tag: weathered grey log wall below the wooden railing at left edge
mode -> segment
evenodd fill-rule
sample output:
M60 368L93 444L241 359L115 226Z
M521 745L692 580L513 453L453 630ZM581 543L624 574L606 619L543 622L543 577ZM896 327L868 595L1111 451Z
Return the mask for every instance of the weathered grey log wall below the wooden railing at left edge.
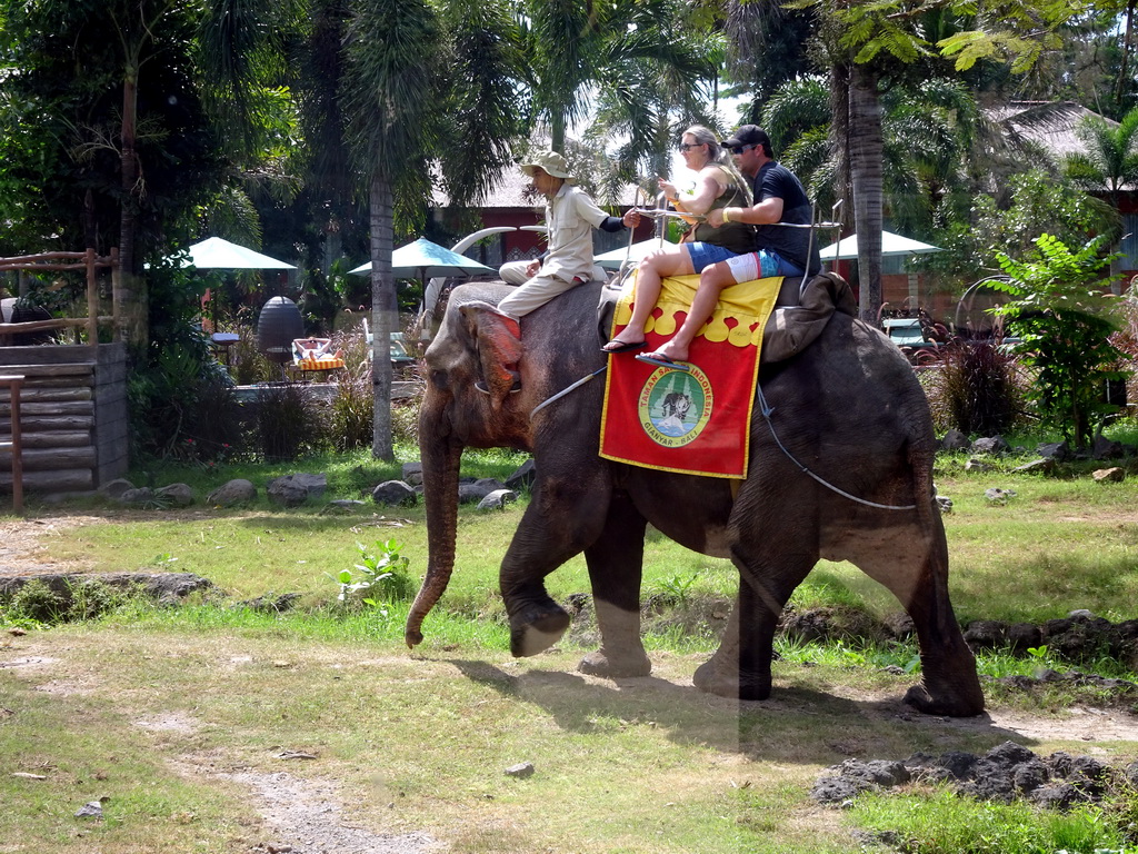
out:
M0 347L0 370L26 377L20 396L25 490L93 490L126 473L122 344ZM0 391L0 433L10 429L8 395ZM0 488L11 488L11 457L2 451Z

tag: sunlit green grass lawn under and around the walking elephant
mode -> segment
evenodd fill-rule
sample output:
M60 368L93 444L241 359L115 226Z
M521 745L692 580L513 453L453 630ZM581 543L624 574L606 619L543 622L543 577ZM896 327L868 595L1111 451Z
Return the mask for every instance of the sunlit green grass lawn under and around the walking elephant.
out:
M516 462L472 458L470 474L501 477ZM356 498L357 482L396 475L337 470L330 496ZM949 460L937 481L954 500L945 522L962 622L1040 622L1074 608L1138 616L1138 479L976 475ZM991 503L992 486L1016 495ZM197 573L225 596L174 609L127 602L55 627L0 611L0 626L26 631L0 635L0 853L410 852L428 849L421 835L471 853L857 852L852 830L891 827L909 835L909 851L947 854L914 818L927 810L926 826L954 828L954 851L996 851L979 841L991 811L973 814L979 807L934 790L906 791L912 821L868 799L855 811L820 807L809 791L848 757L983 753L1009 738L1041 755L1089 752L1120 766L1138 756L1129 707L1094 708L1075 689L1056 689L1042 708L993 690L990 715L970 721L915 715L899 699L916 676L882 670L908 662L905 648L786 648L769 701L699 693L691 674L717 643L714 615L737 575L654 534L644 582L644 598L661 603L649 625L651 678L577 674L587 622L549 654L513 659L497 565L523 502L461 510L454 578L413 652L402 642L405 602L344 613L330 576L360 563L357 543L394 539L418 578L427 556L421 508L90 504L68 508L72 524L33 512L41 560ZM561 600L586 592L583 561L554 573L550 589ZM286 614L234 607L286 592L302 594ZM863 603L879 616L898 609L835 564L819 565L795 603ZM981 658L990 674L1013 666ZM533 763L531 777L505 774L522 762ZM101 820L75 818L100 798ZM1091 847L1069 849L1119 849L1114 828L1125 822L1112 819L1123 807L1113 810L1100 816L1102 832L1086 837ZM1039 834L1050 827L1038 824ZM1000 849L1063 847L1062 831L1046 832Z

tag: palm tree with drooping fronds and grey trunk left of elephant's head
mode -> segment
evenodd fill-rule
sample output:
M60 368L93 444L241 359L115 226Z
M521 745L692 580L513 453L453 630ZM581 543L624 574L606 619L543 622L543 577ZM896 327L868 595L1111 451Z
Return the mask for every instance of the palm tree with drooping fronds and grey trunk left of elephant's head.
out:
M512 22L478 0L442 11L422 0L354 0L352 11L340 102L371 211L372 454L390 460L394 222L421 215L434 161L459 204L510 163L517 40Z

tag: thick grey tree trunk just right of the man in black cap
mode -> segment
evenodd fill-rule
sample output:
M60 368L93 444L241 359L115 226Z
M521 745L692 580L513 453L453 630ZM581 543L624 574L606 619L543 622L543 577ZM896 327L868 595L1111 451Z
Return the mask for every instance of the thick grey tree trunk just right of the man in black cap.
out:
M849 149L857 231L859 314L876 325L881 311L882 134L877 74L868 65L850 68Z

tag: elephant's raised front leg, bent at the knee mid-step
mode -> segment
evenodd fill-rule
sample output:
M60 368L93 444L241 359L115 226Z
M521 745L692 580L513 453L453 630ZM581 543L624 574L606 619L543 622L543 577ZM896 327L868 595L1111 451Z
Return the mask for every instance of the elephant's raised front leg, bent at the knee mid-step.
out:
M534 500L502 560L510 651L533 656L569 627L569 614L545 591L545 576L593 544L604 529L611 482L603 469L542 475Z

